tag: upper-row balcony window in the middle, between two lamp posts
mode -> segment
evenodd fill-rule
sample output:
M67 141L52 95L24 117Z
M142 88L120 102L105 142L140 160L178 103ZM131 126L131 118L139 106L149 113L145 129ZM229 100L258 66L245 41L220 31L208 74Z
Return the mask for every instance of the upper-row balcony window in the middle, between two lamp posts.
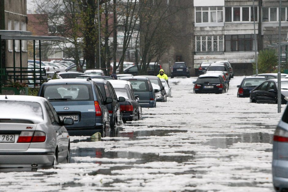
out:
M253 6L251 7L225 7L225 22L247 21L252 22ZM255 21L258 21L258 7L255 7Z

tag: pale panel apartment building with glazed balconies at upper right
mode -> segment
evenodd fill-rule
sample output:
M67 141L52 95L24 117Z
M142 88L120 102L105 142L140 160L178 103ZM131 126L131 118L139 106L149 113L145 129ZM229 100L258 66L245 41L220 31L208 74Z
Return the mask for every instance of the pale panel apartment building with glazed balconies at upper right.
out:
M203 61L229 60L235 74L252 75L255 48L278 42L279 1L194 0L194 67ZM282 41L287 34L288 2L282 3Z

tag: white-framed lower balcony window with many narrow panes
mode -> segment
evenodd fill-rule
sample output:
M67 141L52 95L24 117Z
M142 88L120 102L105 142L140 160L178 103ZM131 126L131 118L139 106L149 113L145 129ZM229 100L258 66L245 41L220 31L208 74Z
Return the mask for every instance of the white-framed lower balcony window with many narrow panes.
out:
M223 51L223 36L196 36L196 51Z

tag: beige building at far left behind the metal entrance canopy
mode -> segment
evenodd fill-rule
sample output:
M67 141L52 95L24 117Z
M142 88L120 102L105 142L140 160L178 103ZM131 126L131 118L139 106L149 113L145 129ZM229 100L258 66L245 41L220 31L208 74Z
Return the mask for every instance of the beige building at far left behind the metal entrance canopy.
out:
M0 0L0 30L27 31L26 0ZM22 41L22 66L27 66L27 42ZM13 54L15 54L16 67L20 67L20 41L15 40L13 53L13 41L2 40L2 66L13 67Z

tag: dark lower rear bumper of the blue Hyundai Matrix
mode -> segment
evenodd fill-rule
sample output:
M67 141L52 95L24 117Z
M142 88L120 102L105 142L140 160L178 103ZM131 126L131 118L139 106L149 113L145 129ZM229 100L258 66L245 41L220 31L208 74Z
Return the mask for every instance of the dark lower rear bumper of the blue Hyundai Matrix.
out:
M102 132L103 126L103 123L97 123L94 127L66 127L66 129L70 136L91 136L94 133Z

